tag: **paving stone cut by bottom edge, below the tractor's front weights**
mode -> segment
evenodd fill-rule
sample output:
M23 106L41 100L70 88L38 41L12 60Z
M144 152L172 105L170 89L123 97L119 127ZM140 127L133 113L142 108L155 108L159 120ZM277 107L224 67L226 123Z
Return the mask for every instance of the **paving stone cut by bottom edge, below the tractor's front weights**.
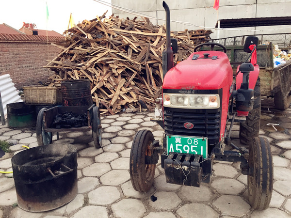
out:
M218 218L219 214L210 206L202 203L188 203L177 210L177 214L182 218Z

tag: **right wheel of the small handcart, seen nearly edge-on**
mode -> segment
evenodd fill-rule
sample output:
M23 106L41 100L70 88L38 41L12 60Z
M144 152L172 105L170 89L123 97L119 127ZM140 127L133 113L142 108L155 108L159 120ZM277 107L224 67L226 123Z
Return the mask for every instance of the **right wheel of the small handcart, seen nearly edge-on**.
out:
M101 148L102 145L101 142L102 130L101 128L98 128L98 126L101 126L100 112L99 108L95 106L93 108L93 119L92 119L92 136L95 148Z

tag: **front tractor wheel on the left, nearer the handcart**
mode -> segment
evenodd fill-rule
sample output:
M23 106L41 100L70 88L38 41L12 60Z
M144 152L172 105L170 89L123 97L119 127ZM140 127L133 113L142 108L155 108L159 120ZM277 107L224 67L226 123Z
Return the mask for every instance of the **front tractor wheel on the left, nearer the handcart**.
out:
M136 191L147 192L152 187L156 165L146 164L146 156L153 151L150 144L154 136L149 130L140 130L135 134L130 151L129 171L133 188Z

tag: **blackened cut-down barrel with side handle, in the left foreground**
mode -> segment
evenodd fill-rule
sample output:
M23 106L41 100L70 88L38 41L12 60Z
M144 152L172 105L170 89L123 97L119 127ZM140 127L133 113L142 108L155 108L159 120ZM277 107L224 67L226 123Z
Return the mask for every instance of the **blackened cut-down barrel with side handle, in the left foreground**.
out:
M11 159L18 206L49 211L72 201L77 193L77 148L49 144L17 153Z

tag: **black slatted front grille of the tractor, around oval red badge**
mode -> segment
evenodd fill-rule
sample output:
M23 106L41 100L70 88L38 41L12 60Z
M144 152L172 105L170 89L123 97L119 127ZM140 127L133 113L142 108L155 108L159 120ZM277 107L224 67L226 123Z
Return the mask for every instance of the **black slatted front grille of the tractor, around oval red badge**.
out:
M207 137L209 145L219 142L220 109L176 109L164 107L164 129L166 135ZM184 124L194 124L186 129Z

